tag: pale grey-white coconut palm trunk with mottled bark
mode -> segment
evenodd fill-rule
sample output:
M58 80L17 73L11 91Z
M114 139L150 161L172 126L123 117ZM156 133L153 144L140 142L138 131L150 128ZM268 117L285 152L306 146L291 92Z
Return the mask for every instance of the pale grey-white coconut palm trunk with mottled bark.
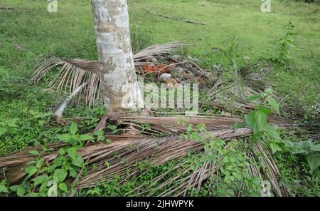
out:
M91 0L91 4L105 108L110 113L142 108L130 43L127 0Z

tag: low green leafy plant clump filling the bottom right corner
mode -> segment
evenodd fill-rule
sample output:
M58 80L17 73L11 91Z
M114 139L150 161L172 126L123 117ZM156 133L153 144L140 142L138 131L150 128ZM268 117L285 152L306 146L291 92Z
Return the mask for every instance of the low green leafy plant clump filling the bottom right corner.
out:
M302 133L303 130L299 134ZM296 196L320 196L319 166L315 165L314 170L311 170L310 164L315 162L308 163L308 160L309 162L314 160L312 157L316 155L319 160L319 152L316 152L319 142L303 139L304 135L284 131L283 143L279 144L282 150L274 154L273 158L282 174L282 180L289 185ZM307 154L312 155L308 160Z

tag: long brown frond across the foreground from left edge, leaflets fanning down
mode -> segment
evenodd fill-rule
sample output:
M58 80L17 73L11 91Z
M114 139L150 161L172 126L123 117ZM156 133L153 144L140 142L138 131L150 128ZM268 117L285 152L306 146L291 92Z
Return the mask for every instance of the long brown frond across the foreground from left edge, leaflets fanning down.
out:
M213 130L210 131L212 135L217 138L231 140L233 138L244 137L250 135L249 128L242 128L237 130ZM169 160L181 158L187 155L190 150L198 151L203 149L203 143L183 140L178 135L171 135L162 138L119 138L112 139L112 143L104 144L92 143L81 148L78 153L88 163L95 163L96 168L89 170L87 175L82 177L77 187L93 187L97 182L107 182L114 179L115 175L125 176L129 179L127 172L131 172L133 176L137 173L137 167L134 163L139 160L148 158L152 165L161 165ZM42 152L41 148L36 148L41 152L42 158L46 162L51 162L58 156L58 148L63 147L64 144L51 145L54 148L50 152ZM7 181L16 183L25 177L24 167L28 162L34 160L36 157L30 155L28 152L34 150L30 148L21 153L11 154L6 157L0 157L0 168L4 168L4 173ZM93 153L92 153L93 152ZM117 157L114 157L117 153ZM125 161L125 162L124 162ZM109 163L110 167L106 167L105 163Z

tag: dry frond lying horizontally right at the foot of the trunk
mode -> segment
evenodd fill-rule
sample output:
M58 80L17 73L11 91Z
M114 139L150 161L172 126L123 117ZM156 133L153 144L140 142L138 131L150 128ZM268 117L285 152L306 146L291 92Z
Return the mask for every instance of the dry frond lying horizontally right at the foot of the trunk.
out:
M231 128L232 125L235 125L235 123L240 123L240 122L242 122L242 120L239 118L225 117L225 116L219 116L219 115L211 115L210 118L201 117L201 116L190 117L185 115L174 115L169 117L149 116L149 115L120 115L119 116L119 123L121 125L135 124L134 128L136 128L136 125L139 123L148 123L150 125L149 130L151 130L152 132L156 131L158 133L161 133L161 132L166 132L171 134L183 133L188 129L188 125L196 126L198 124L204 123L206 125L207 130L213 130L215 131L215 133L218 133L219 135L223 135L223 137L225 138L228 138L228 134L230 134L230 137L233 137L233 130L230 130L229 128ZM183 125L182 123L185 123L185 125ZM292 126L290 124L282 124L282 125L283 127ZM220 131L220 132L217 132L217 131ZM227 131L227 132L224 133L223 131ZM240 130L234 130L234 131L240 131ZM124 138L128 138L128 135L127 134L106 135L105 138L112 138L118 141L118 140L125 140ZM53 148L54 150L57 150L63 145L64 144L57 143L57 144L48 145L48 148ZM18 163L24 163L26 161L32 160L34 158L34 155L28 154L28 152L30 152L31 150L41 151L41 147L28 148L26 150L22 150L21 152L7 155L6 157L0 157L0 168L9 166L9 165L16 165ZM53 155L53 152L51 151L49 154ZM43 155L46 156L46 153L44 153Z

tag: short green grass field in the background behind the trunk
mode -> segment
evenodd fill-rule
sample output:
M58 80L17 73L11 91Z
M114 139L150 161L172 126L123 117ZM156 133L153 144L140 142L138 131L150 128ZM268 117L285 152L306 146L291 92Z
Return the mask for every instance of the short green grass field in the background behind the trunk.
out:
M41 53L66 58L96 59L90 1L59 1L58 13L46 10L46 1L3 1L1 11L1 73L30 76ZM149 9L182 19L205 22L197 26L151 16ZM319 6L301 2L272 1L272 13L260 11L260 1L129 1L132 31L139 29L152 43L183 41L191 56L201 58L204 67L215 63L230 68L230 58L217 56L213 47L232 51L241 66L243 56L252 63L277 56L276 40L284 35L283 26L291 21L296 30L290 70L274 68L270 78L278 92L304 102L319 99ZM23 50L16 50L14 45ZM232 49L231 49L232 48ZM294 83L292 83L294 81ZM310 102L308 103L310 104Z

